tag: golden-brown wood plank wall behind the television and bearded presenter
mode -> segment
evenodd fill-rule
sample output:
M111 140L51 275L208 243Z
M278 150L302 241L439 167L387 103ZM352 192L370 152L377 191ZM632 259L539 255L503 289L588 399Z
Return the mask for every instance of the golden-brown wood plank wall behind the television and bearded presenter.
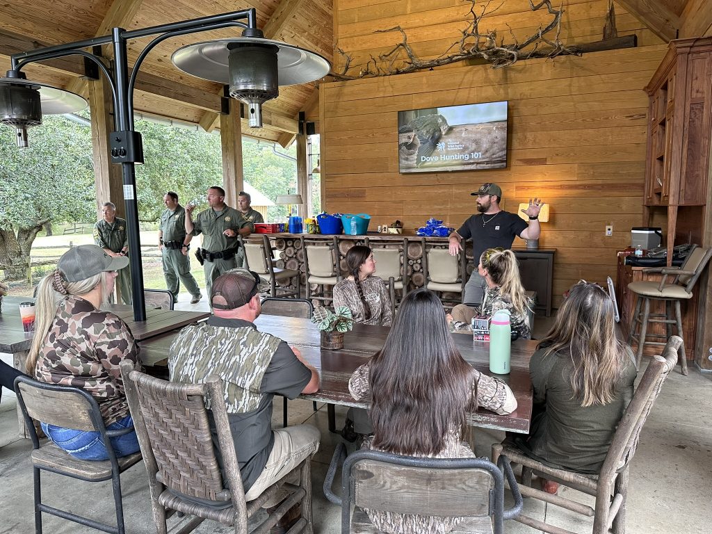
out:
M429 11L417 11L426 6ZM431 46L435 36L463 27L457 20L448 22L456 9L461 21L463 6L444 0L337 0L337 46L346 51L360 46L359 53L367 57L379 51L383 36L389 35L369 32L398 23L408 31L409 42L411 35L422 36L424 46ZM579 43L599 40L605 6L605 1L567 2L562 37ZM508 211L534 196L550 203L551 221L543 224L540 246L557 248L555 306L580 278L604 282L606 276L615 276L616 251L629 245L630 228L642 221L647 110L642 89L666 50L618 6L617 13L619 33L624 33L623 26L655 44L580 58L520 61L497 70L459 63L321 85L325 209L371 214L372 226L399 219L414 229L435 216L457 227L475 211L470 192L483 182L496 182ZM506 23L513 28L538 25L528 14L527 1L507 0L496 14L505 28ZM454 38L436 41L441 48L433 45L432 50L442 51ZM414 45L418 42L413 38ZM399 110L495 100L509 101L506 169L399 174ZM614 226L612 237L604 236L607 224Z

